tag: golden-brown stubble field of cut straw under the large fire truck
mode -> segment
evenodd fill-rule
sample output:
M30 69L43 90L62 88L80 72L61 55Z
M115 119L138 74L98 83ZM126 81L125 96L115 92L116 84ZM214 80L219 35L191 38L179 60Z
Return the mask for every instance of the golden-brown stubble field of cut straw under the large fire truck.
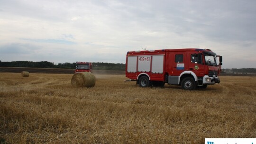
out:
M6 144L204 144L256 136L256 77L220 76L206 90L140 88L122 75L0 73L0 142Z

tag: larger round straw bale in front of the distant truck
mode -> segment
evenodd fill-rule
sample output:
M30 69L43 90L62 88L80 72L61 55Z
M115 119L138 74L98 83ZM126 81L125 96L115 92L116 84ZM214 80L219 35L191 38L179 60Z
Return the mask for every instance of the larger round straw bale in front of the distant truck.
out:
M90 72L75 73L71 79L74 87L94 87L95 76Z

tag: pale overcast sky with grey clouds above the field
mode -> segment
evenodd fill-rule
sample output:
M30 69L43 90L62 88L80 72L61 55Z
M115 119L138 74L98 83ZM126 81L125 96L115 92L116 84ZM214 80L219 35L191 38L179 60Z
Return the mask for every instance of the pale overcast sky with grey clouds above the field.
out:
M141 47L256 68L256 0L0 0L2 62L125 63Z

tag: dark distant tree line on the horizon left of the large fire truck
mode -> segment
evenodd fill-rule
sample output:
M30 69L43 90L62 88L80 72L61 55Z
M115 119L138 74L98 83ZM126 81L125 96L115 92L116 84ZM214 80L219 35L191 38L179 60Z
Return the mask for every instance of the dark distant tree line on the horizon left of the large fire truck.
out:
M60 68L60 69L74 69L75 63L51 63L30 62L30 61L12 61L1 62L0 67L30 67L30 68ZM92 63L93 70L111 70L111 71L125 71L124 63Z

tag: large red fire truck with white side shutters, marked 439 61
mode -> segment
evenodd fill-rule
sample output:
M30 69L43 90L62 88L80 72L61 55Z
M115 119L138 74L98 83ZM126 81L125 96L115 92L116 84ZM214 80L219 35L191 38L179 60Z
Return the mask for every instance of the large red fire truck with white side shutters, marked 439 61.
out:
M185 90L219 83L222 56L210 49L131 51L126 55L126 77L141 87L181 85Z

